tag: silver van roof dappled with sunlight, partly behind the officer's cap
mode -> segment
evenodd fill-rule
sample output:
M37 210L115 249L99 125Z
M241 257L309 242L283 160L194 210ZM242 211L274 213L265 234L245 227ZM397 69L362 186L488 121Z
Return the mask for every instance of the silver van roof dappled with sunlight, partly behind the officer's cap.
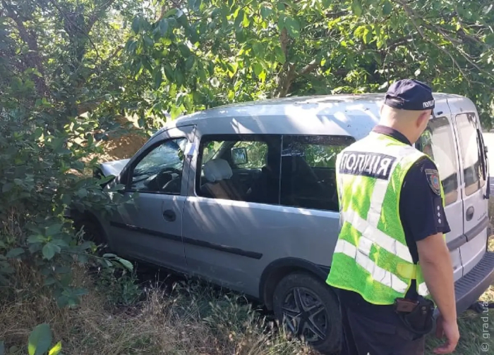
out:
M173 120L169 127L198 125L201 133L349 135L359 139L379 120L385 94L294 96L217 106ZM447 99L463 96L434 93L435 110ZM438 111L440 112L440 111ZM206 122L205 122L206 121Z

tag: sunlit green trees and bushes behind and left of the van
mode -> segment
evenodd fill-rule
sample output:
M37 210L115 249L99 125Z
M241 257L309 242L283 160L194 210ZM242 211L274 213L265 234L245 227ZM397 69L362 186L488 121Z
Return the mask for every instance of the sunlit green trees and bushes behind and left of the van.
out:
M126 203L88 174L102 148L181 114L416 77L492 127L493 26L490 0L0 0L2 297L19 264L60 306L86 292L74 263L131 268L96 256L64 209Z

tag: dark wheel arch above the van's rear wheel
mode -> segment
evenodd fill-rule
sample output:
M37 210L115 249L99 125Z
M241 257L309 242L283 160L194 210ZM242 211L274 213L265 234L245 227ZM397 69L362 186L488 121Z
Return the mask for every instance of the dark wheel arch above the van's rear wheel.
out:
M299 258L283 258L272 261L264 269L259 282L259 298L267 309L272 310L272 296L275 293L278 282L286 275L297 271L311 273L325 282L330 267Z

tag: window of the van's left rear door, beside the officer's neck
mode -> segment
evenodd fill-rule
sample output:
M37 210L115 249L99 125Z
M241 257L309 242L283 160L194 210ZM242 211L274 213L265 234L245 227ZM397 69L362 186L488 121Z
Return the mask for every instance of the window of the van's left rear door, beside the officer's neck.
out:
M437 117L429 120L426 131L418 139L417 149L432 158L438 167L445 204L458 199L458 161L450 120Z

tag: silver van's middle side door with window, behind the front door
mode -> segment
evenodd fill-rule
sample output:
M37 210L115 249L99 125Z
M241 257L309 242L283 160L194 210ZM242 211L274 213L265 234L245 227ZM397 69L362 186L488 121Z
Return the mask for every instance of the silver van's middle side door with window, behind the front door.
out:
M270 219L270 202L279 201L281 136L212 135L200 139L193 163L198 167L195 188L189 189L183 211L188 266L202 278L255 294L265 268L266 245L260 241L279 231L280 220ZM219 147L219 154L208 154L208 147ZM231 161L235 147L245 147L248 161L256 167L265 161L263 175L251 182L236 177L235 163L239 162ZM246 182L250 186L244 185ZM268 218L272 225L266 223Z

